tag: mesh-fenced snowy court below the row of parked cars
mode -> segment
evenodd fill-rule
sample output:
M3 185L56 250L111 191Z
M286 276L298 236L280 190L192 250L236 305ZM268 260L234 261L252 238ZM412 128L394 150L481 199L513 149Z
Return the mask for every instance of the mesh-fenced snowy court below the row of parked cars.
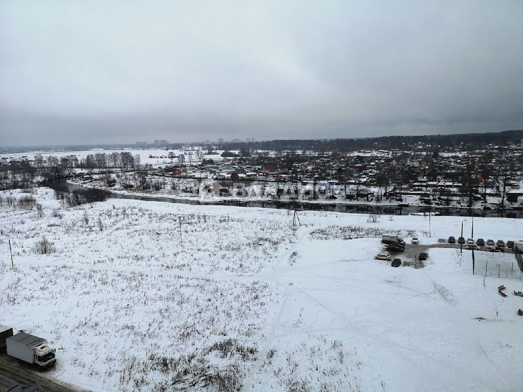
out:
M476 251L474 253L474 274L523 280L523 257L521 253L516 253L516 255L503 252Z

